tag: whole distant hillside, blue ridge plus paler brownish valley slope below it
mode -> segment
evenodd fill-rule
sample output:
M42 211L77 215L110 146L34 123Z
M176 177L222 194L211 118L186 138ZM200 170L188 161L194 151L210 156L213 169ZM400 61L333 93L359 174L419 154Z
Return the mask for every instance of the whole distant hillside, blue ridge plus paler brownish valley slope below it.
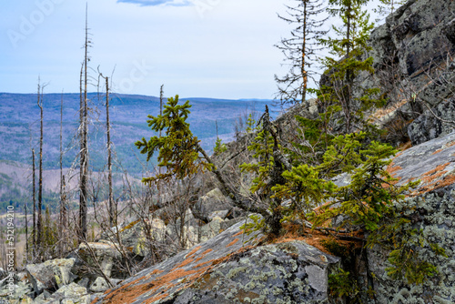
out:
M79 94L44 95L44 187L45 206L58 203L59 185L59 143L60 143L60 102L63 98L63 147L65 172L73 167L75 171L69 182L70 188L76 187L79 148L77 127L79 125ZM105 96L90 93L89 127L89 166L92 171L106 169L106 106ZM39 153L39 107L36 94L0 93L0 213L9 204L22 209L24 203L31 208L31 164L32 147L35 148L35 164L38 166ZM213 98L180 98L192 105L188 122L191 130L207 151L212 151L215 141L220 137L224 142L235 136L235 124L238 117L245 123L249 113L260 117L265 106L274 111L272 100L229 100ZM165 99L165 103L167 99ZM127 172L133 177L142 177L146 167L154 166L154 160L148 164L146 157L139 153L134 143L142 137L151 137L154 133L147 126L147 115L159 114L159 98L155 96L112 95L109 116L111 120L111 138L115 147L114 170L116 181L121 183L122 174ZM216 127L217 126L217 127ZM37 171L36 171L37 172ZM98 175L99 176L99 175ZM37 178L37 177L36 177Z

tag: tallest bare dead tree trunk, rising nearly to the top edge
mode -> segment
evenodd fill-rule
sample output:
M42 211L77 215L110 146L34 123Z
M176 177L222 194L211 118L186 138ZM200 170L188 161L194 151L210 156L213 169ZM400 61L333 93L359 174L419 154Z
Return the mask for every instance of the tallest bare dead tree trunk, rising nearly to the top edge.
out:
M86 217L87 217L87 63L88 63L88 25L86 8L86 44L84 56L84 99L82 100L81 113L81 157L80 157L80 187L79 187L79 241L86 240Z

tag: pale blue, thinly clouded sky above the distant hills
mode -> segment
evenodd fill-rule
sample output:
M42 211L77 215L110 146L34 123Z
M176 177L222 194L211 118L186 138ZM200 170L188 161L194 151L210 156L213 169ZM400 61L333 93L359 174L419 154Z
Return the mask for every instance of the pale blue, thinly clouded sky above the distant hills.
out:
M291 0L88 0L89 49L97 72L124 94L265 98L277 92L283 56L274 47ZM0 92L76 93L84 59L86 2L2 1Z

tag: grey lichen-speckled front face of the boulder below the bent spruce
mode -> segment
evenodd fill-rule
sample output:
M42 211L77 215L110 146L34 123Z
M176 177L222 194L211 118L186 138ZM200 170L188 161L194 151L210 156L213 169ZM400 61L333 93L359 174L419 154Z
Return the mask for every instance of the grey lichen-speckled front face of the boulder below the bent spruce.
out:
M328 272L338 260L304 241L254 248L219 264L174 303L329 303Z

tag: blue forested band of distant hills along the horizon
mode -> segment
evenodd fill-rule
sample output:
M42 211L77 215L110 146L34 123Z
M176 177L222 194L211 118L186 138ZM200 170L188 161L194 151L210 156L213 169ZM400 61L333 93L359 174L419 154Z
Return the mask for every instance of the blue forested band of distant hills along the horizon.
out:
M90 165L94 171L106 165L106 106L105 96L90 93ZM60 101L64 100L63 142L64 167L71 167L76 159L78 141L79 94L44 95L44 164L46 169L59 167ZM213 99L180 98L192 105L188 122L192 132L201 140L202 146L212 150L218 132L223 141L234 137L238 117L248 117L254 112L257 117L265 105L275 108L272 100L264 99ZM165 102L167 99L165 100ZM273 112L278 115L278 112ZM113 95L110 101L112 141L116 149L117 163L122 171L140 174L141 162L146 158L134 146L136 140L154 134L147 127L147 115L159 114L159 98L156 96ZM217 127L216 127L217 122ZM39 108L36 94L0 93L0 159L31 164L31 147L37 156L39 143Z

